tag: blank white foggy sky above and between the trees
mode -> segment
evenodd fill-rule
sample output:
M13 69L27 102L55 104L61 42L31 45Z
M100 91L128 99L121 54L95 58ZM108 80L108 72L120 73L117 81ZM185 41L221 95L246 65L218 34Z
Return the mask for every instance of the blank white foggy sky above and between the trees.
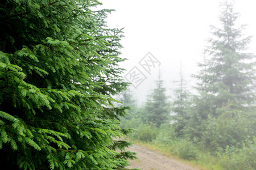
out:
M179 78L180 62L186 75L188 86L195 84L191 74L199 70L197 62L203 59L209 25L220 26L220 1L217 0L105 0L101 8L116 10L107 19L110 28L125 28L121 44L121 57L129 59L120 66L127 71L137 67L147 78L137 88L130 87L140 102L146 100L148 91L155 87L159 68L150 73L139 65L148 52L160 62L160 73L171 95L174 80ZM245 36L254 36L248 52L256 54L256 1L236 0L235 10L241 16L238 24L247 24ZM154 59L153 59L154 60ZM158 63L155 62L155 65ZM138 71L137 71L138 72ZM131 73L131 72L130 72ZM129 77L128 77L129 78ZM139 80L139 79L138 79Z

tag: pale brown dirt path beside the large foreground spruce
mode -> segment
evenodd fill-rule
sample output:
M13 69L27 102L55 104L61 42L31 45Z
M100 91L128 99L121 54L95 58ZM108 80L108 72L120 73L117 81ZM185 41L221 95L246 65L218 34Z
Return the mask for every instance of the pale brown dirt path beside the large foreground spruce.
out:
M127 168L141 168L142 170L199 170L187 163L179 162L179 160L143 146L134 144L128 150L137 152L136 156L139 159L130 160L131 165Z

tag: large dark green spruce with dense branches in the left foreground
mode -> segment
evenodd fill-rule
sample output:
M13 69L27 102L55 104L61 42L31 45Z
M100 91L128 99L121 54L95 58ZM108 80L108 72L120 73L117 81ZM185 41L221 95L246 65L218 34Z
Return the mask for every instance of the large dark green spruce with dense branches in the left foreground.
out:
M2 168L121 169L134 157L114 151L129 145L112 139L122 30L104 27L110 11L90 10L100 4L0 2Z

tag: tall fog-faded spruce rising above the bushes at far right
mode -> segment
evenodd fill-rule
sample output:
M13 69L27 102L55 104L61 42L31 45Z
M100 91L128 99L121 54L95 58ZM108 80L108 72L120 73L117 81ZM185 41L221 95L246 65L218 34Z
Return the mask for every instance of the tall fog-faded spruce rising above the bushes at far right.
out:
M232 101L232 108L242 109L249 104L255 104L255 58L253 54L244 53L251 37L243 37L244 25L236 28L235 22L239 16L233 10L233 4L222 3L220 22L222 28L212 26L212 39L206 50L210 58L205 59L201 74L197 78L203 86L197 88L212 99L212 113L216 108Z

